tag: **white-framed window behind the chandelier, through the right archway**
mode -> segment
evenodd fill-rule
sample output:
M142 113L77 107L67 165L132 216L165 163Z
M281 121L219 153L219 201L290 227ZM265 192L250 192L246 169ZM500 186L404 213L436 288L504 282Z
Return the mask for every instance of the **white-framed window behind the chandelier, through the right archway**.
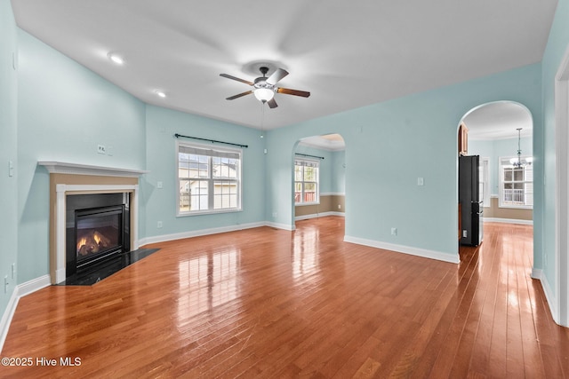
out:
M509 162L509 158L501 158L500 207L533 209L533 166L531 164L517 168Z

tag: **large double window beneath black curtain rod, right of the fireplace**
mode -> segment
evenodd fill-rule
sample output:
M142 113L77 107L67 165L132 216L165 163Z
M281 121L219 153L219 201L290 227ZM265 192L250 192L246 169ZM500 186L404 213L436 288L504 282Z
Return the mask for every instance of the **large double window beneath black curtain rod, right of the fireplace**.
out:
M241 150L178 142L178 215L241 210Z

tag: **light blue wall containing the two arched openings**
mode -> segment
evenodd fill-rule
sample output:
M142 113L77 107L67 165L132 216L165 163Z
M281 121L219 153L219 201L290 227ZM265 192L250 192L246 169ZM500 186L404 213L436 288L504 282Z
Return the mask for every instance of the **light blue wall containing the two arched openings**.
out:
M292 201L283 200L292 199L295 142L340 133L346 141L346 234L455 257L458 124L473 107L498 100L523 104L541 123L541 65L268 131L267 219L293 225Z

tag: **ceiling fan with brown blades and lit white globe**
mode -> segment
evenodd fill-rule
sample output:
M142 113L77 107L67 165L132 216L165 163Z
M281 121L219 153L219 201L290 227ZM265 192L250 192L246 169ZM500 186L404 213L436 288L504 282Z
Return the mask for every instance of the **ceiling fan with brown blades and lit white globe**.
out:
M301 96L302 98L308 98L310 96L310 92L307 91L298 91L298 90L291 90L288 88L276 87L276 83L278 83L284 76L288 75L288 72L283 68L276 68L276 71L267 77L268 67L259 67L260 74L254 80L254 82L249 82L248 80L240 79L238 77L228 75L228 74L220 74L220 76L227 77L228 79L236 80L237 82L249 84L253 87L252 90L244 91L237 95L231 96L227 98L228 100L238 99L246 95L250 95L254 93L255 98L260 100L263 104L267 103L268 107L276 108L275 101L275 92L276 93L284 93L285 95L294 95L294 96Z

